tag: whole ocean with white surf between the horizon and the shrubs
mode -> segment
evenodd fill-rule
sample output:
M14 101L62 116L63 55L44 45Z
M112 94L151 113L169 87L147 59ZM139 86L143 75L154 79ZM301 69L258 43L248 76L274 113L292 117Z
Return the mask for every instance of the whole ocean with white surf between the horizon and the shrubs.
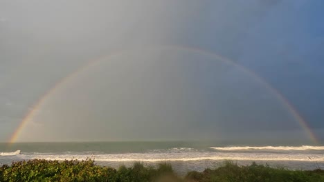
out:
M253 161L275 168L314 170L324 168L324 146L320 145L220 145L212 142L69 142L0 143L0 164L47 159L94 159L98 165L118 168L135 161L145 165L171 163L179 174L216 168L231 160L239 165Z

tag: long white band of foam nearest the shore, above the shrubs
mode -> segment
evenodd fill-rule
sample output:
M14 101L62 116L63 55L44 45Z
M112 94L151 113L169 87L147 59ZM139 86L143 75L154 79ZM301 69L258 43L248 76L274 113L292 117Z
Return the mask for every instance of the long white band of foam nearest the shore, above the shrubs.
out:
M233 153L233 152L183 152L183 153L129 153L129 154L35 154L24 156L26 159L47 160L83 160L87 158L95 161L127 162L127 161L205 161L205 160L234 160L234 161L324 161L323 154L271 154L271 153Z

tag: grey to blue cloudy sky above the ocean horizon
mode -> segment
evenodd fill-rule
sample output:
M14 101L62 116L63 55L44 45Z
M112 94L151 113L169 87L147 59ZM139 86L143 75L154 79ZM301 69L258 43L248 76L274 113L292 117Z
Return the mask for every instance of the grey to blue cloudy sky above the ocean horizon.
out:
M321 141L323 6L0 1L0 141Z

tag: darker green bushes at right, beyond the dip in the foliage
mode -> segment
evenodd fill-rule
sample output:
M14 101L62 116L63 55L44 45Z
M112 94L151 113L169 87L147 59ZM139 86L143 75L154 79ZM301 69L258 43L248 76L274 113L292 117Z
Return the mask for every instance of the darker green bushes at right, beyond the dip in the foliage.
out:
M302 182L324 181L324 170L286 170L283 168L270 168L269 165L252 163L249 166L238 166L231 161L224 163L215 170L206 169L204 172L188 172L189 181L251 181L251 182Z

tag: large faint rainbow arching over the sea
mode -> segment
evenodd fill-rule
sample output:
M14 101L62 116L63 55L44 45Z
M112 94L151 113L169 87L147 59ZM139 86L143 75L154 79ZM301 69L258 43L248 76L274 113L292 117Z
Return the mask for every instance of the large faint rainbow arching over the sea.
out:
M176 50L176 51L179 50L180 51L181 50L181 51L187 51L187 52L192 52L192 53L197 53L197 54L201 54L204 56L208 56L215 60L222 61L229 65L233 65L235 68L239 68L242 72L252 76L255 79L255 81L258 81L258 83L262 84L264 86L264 88L266 88L272 94L274 94L282 102L282 104L286 108L288 108L289 112L291 112L294 119L296 119L296 121L298 121L298 124L304 130L307 137L313 143L318 143L318 139L316 139L316 135L314 134L314 132L312 132L311 128L309 128L309 125L307 125L307 122L305 121L305 119L303 119L303 117L300 116L300 114L297 112L297 110L294 108L294 106L291 105L291 103L278 90L273 88L269 83L267 83L267 81L264 81L264 79L259 77L258 74L255 74L255 72L252 72L248 68L245 68L244 66L235 63L231 59L226 59L222 56L219 56L218 54L216 54L214 52L208 52L206 50L202 50L199 48L190 48L190 47L186 47L186 46L182 46L182 45L159 45L159 46L152 46L150 48L136 48L136 49L132 49L132 50L142 50L142 51L143 50L144 51L150 51L150 50L161 50L161 51L162 50ZM65 83L68 83L71 79L77 78L78 74L85 72L86 70L88 70L89 68L91 68L93 66L98 65L100 62L109 60L114 56L126 54L127 52L130 52L130 50L114 52L114 53L106 55L104 57L100 57L99 59L91 59L85 65L81 66L74 72L71 72L71 74L68 74L66 77L64 77L60 81L57 81L57 83L55 83L55 85L50 90L46 91L45 94L39 98L39 100L33 105L32 109L26 113L26 115L24 116L24 118L21 120L18 127L16 128L15 132L13 132L12 135L10 136L10 139L8 142L9 145L11 143L15 143L17 141L19 134L21 134L22 130L24 130L27 123L29 123L30 120L32 120L33 117L35 117L37 110L39 110L39 108L42 107L42 105L46 101L46 99L51 97L51 94L53 94L58 88L60 88Z

